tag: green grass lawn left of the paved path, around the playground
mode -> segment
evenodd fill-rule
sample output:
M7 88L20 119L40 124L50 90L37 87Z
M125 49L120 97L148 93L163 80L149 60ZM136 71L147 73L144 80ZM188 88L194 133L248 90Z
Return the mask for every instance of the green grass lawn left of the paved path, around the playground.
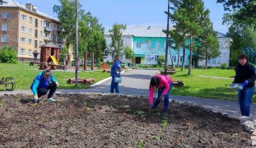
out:
M28 62L20 62L16 64L0 63L0 78L12 76L16 81L16 90L29 90L32 81L35 76L41 72L39 66L36 64L30 66ZM74 84L67 84L68 78L74 78L75 72L53 71L55 78L58 80L60 89L75 89L86 88L88 86ZM108 72L101 71L81 71L78 72L80 78L94 78L95 81L100 81L109 77ZM0 90L3 90L4 86L0 85Z

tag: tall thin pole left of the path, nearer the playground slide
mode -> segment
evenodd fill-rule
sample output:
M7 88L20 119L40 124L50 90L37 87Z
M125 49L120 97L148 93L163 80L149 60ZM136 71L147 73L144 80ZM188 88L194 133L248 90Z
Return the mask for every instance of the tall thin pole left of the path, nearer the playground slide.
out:
M78 3L78 0L76 0L76 77L75 77L75 84L77 86L77 72L78 72L78 66L79 66L79 63L78 63L78 20L77 20L77 3Z

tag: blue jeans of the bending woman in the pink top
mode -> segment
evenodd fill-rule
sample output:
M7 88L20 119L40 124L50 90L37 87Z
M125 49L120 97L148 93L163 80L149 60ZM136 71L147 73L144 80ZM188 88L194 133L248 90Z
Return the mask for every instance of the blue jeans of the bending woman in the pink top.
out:
M173 86L173 82L170 83L170 89L168 90L167 94L165 95L164 113L166 113L168 111L168 108L169 108L169 93L170 93L170 90L171 90L172 86ZM165 90L165 87L161 87L161 88L158 89L158 97L155 100L152 108L156 108L156 106L158 104L160 104L160 102L161 102L161 95L162 95L164 90Z

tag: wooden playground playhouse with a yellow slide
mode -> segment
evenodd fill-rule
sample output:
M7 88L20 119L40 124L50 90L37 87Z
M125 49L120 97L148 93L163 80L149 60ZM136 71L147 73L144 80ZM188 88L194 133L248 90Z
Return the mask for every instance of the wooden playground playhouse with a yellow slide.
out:
M30 66L33 66L34 63L40 64L40 70L44 70L48 66L51 67L52 70L56 70L57 68L66 70L67 65L59 65L59 47L56 44L48 43L41 46L40 53L40 62L30 62ZM67 60L68 61L68 60Z

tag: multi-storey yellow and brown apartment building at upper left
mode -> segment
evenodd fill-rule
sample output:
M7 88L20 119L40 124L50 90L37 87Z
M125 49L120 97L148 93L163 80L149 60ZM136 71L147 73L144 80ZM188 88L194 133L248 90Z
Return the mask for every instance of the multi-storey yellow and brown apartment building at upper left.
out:
M4 45L14 47L19 61L39 60L40 45L61 44L59 21L31 3L0 0L0 25L0 49Z

